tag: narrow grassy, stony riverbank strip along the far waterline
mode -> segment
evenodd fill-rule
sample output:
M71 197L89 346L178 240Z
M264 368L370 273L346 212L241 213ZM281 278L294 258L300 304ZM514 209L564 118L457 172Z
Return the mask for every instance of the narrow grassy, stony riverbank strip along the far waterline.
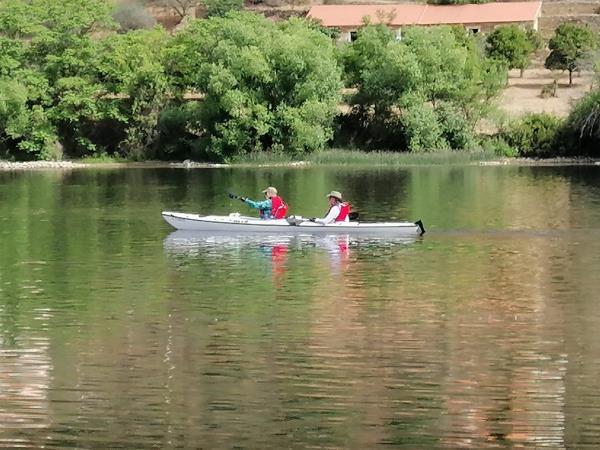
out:
M227 164L215 164L200 161L0 161L0 171L34 171L34 170L79 170L79 169L201 169L201 168L236 168L236 167L310 167L310 166L600 166L599 159L591 158L499 158L490 152L440 152L440 153L392 153L362 152L357 150L329 150L309 155L303 161L285 160L281 157L238 158Z

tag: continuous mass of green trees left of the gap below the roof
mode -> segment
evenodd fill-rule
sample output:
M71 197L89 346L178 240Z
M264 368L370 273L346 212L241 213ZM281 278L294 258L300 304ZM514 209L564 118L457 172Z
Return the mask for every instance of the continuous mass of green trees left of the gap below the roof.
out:
M314 26L240 13L175 37L117 28L103 0L0 4L0 152L222 159L331 137L341 74Z

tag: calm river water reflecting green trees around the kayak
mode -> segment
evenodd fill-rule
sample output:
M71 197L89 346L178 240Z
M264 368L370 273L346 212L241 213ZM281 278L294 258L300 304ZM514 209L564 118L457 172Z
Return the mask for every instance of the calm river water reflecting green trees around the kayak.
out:
M268 185L428 232L160 217ZM0 243L0 447L600 447L600 167L0 172Z

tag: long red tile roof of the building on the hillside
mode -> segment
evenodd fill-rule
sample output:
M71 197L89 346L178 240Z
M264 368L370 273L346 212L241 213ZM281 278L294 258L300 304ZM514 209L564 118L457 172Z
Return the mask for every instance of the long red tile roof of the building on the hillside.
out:
M369 17L372 23L401 25L483 24L533 22L540 16L541 1L503 2L474 5L318 5L308 16L326 27L360 27ZM391 19L391 20L390 20Z

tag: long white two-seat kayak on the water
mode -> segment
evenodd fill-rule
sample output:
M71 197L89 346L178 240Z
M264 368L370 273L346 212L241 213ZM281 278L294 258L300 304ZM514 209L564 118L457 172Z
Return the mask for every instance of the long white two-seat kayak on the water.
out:
M238 213L228 216L200 216L180 212L164 211L163 219L178 230L211 232L265 232L265 233L365 233L421 236L425 233L423 223L417 222L336 222L323 225L304 217L290 216L287 219L262 220Z

